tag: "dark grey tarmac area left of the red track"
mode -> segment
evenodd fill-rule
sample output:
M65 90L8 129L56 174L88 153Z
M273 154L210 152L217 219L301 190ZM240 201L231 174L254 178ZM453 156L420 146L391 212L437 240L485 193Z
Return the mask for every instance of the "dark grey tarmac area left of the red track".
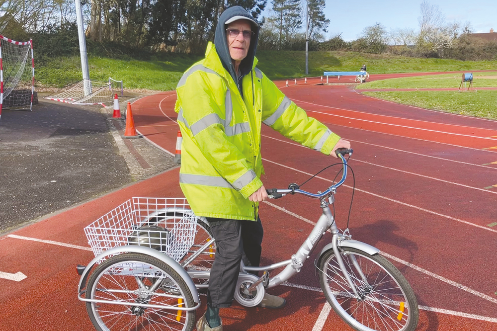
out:
M144 138L124 142L112 107L42 97L1 114L0 234L175 166Z

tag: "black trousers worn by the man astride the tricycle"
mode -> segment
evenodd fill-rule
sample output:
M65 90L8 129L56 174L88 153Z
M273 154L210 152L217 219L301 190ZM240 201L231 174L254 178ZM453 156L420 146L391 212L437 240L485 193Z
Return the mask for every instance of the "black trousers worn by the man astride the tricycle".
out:
M207 290L207 303L214 308L230 307L237 286L240 262L247 257L249 265L259 266L264 231L257 221L207 218L216 240L216 255ZM244 256L245 253L245 256ZM244 261L247 264L247 261Z

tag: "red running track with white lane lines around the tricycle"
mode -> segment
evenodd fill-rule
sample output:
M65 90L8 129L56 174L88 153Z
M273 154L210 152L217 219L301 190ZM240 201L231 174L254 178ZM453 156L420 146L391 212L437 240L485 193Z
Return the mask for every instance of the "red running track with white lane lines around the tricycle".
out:
M408 278L421 308L417 330L497 330L497 122L385 102L351 86L314 85L319 80L277 84L351 140L356 191L350 232L380 248ZM175 93L166 92L133 103L138 131L170 153L178 130L174 101ZM269 128L262 135L266 187L303 182L335 161ZM76 295L75 265L92 257L83 227L132 196L180 196L177 175L177 168L164 172L0 238L0 271L27 276L20 282L0 278L0 330L92 330ZM326 188L333 177L326 171L307 189ZM342 228L351 185L347 181L336 196ZM262 204L262 263L288 259L312 229L302 219L315 221L319 214L315 201L297 196ZM287 299L284 309L234 304L222 310L225 329L351 330L328 313L312 262L289 282L270 290Z

